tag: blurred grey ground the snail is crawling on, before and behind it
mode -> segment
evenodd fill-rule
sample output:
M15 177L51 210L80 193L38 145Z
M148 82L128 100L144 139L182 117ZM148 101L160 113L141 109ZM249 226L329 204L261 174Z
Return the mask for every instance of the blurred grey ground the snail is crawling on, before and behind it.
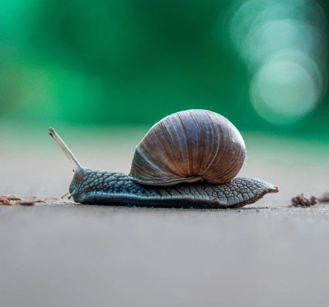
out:
M240 209L83 206L40 196L73 175L46 130L0 134L0 194L47 201L0 205L0 307L328 306L329 205L288 207L329 190L328 145L243 134L239 176L280 192ZM141 139L58 130L82 165L126 173Z

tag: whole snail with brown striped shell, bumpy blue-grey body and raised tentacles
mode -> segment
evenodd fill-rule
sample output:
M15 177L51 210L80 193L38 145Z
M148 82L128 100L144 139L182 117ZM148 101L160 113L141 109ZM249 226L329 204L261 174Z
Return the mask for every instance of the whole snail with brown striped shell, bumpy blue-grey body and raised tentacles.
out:
M180 111L156 123L137 145L128 176L82 167L53 128L49 135L75 172L63 198L81 204L236 208L278 192L257 178L235 178L245 161L244 140L209 110Z

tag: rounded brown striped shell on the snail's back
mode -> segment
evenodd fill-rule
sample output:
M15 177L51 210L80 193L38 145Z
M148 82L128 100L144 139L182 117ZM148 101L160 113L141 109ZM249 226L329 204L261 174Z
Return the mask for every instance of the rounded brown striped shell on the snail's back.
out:
M180 111L156 123L137 145L129 178L145 185L226 183L237 176L245 156L240 132L224 116Z

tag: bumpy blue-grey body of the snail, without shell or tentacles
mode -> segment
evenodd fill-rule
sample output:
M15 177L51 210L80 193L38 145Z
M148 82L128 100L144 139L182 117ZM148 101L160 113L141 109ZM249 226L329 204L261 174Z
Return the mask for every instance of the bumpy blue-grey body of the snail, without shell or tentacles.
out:
M256 178L235 178L226 184L203 182L175 186L145 186L122 173L84 168L76 172L70 193L86 205L124 205L176 208L236 208L252 204L277 186Z

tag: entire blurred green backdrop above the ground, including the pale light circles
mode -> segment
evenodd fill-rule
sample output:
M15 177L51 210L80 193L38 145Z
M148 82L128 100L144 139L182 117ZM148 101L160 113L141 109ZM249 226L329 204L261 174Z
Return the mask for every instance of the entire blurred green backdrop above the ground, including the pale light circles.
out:
M240 129L329 134L317 1L4 0L0 119L152 125L211 108Z

